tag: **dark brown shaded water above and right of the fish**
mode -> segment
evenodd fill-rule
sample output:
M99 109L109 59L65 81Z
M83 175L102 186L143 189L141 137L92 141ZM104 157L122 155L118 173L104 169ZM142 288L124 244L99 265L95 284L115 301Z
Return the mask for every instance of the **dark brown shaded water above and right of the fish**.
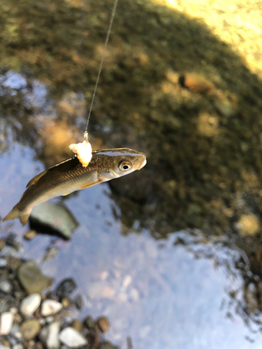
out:
M2 77L12 69L22 82L1 87L1 149L11 130L52 165L85 128L112 3L3 2ZM261 94L244 59L200 20L120 1L89 125L96 148L147 154L143 171L110 182L123 234L198 228L241 248L247 318L262 309Z

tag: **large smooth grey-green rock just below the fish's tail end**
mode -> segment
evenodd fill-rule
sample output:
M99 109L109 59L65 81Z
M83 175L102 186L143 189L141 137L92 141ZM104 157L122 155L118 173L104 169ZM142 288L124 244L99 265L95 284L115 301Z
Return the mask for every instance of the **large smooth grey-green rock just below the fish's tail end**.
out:
M31 228L39 232L56 235L61 234L65 239L70 239L73 230L78 227L78 221L68 208L62 204L42 202L36 205L29 218Z

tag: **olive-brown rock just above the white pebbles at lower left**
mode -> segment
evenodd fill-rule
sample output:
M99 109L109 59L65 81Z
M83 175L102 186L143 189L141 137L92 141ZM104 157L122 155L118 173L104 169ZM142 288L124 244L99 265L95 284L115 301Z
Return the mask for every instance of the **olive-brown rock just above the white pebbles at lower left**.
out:
M31 293L40 293L51 283L51 279L44 276L34 260L28 260L18 269L18 279L24 290Z

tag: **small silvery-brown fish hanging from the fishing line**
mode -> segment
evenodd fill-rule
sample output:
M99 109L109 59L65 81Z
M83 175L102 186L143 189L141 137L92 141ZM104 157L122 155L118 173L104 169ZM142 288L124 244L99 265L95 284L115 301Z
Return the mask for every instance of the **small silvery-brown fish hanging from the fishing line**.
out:
M25 225L34 205L122 177L140 170L146 163L145 154L127 148L92 151L92 160L86 168L78 158L68 158L31 179L20 201L3 221L19 218Z

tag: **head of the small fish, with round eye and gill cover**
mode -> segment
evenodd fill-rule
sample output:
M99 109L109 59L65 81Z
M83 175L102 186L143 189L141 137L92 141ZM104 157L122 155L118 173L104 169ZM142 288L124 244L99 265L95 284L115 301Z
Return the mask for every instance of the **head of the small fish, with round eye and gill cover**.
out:
M102 181L109 181L140 170L147 163L144 153L128 148L105 149L98 154L101 156L99 178Z

